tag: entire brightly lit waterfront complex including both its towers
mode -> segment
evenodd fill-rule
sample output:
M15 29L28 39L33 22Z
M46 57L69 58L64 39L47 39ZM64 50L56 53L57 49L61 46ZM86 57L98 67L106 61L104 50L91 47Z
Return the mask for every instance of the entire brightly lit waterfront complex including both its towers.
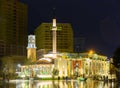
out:
M106 56L93 52L57 53L56 30L56 19L53 19L53 51L52 53L43 54L43 57L39 60L36 59L35 35L28 36L27 58L34 64L22 65L19 73L20 77L52 78L55 76L76 78L81 75L87 77L109 75L110 62Z

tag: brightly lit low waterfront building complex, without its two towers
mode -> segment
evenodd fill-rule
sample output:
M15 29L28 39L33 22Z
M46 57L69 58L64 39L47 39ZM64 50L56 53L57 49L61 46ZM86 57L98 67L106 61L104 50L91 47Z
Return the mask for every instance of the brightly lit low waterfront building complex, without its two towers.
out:
M70 77L75 79L84 75L85 77L94 78L97 76L103 79L103 77L109 76L110 62L103 55L92 54L91 57L89 53L60 53L57 54L56 59L49 57L50 55L47 54L46 56L36 61L36 64L21 66L19 76L31 76L30 74L33 72L33 77L49 78L53 76L54 68L59 71L56 76L60 78ZM30 72L29 69L32 69L32 71Z

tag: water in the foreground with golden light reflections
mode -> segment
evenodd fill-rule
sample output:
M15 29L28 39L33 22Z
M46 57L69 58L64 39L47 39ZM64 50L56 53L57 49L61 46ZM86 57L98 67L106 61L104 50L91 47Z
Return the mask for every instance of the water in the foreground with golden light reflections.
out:
M10 80L0 82L0 88L120 88L117 82L95 80Z

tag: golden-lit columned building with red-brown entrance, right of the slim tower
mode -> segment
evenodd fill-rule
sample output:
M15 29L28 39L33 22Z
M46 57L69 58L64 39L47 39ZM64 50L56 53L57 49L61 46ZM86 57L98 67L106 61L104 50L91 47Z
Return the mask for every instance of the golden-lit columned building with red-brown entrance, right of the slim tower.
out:
M95 75L103 77L109 75L109 61L106 56L89 53L67 53L66 59L68 68L68 75L70 77L86 75L87 77L94 77Z

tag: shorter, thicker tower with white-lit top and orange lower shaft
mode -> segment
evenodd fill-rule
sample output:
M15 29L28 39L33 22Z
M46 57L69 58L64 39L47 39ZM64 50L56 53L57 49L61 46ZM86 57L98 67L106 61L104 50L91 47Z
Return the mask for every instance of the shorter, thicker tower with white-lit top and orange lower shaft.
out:
M30 59L32 62L36 61L35 35L28 36L27 58Z

